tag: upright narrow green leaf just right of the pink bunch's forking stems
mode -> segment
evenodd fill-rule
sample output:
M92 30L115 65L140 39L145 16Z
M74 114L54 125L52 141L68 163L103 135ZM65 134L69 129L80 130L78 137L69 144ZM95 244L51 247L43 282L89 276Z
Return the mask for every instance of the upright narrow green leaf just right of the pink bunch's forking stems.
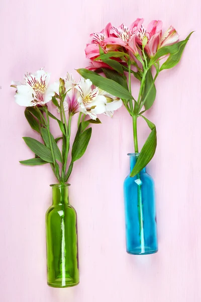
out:
M145 88L144 88L144 93L143 93L143 96L142 96L142 102L144 101L144 99L145 99L152 83L153 83L153 77L152 77L151 68L150 68L147 71L146 78L145 78ZM153 103L155 101L155 98L156 98L156 87L155 87L155 85L153 85L152 89L149 92L149 96L147 97L147 99L144 103L144 106L145 106L146 110L151 108L151 106L153 105Z

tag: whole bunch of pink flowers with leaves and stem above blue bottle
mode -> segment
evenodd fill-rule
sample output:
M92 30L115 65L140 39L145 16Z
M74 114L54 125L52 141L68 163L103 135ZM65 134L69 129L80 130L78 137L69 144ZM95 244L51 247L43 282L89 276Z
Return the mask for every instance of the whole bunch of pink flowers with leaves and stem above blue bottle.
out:
M131 176L137 175L150 162L156 149L156 127L143 115L155 100L154 83L162 70L172 68L179 62L192 34L177 42L179 36L174 27L170 26L163 34L162 21L151 21L147 29L143 22L144 19L138 18L130 27L125 24L114 27L109 23L101 32L92 33L91 42L85 48L89 66L78 69L83 78L90 79L100 89L122 99L133 119L136 153L139 152L137 118L144 118L151 129ZM131 76L140 82L139 94L135 98L132 95Z

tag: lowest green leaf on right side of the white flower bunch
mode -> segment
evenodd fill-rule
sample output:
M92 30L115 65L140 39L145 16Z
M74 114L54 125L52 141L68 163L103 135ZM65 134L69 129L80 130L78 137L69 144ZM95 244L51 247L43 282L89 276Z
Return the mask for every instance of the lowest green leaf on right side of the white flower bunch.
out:
M72 160L71 160L72 162L77 161L83 156L91 137L91 131L92 129L88 128L85 131L81 132L81 123L80 123L72 145Z

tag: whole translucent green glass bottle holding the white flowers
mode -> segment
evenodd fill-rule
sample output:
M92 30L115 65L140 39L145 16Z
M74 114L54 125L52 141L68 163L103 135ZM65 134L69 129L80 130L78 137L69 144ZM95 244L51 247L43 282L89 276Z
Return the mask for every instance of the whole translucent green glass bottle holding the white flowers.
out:
M69 204L69 186L51 185L52 205L46 212L47 284L53 287L79 283L77 215Z

